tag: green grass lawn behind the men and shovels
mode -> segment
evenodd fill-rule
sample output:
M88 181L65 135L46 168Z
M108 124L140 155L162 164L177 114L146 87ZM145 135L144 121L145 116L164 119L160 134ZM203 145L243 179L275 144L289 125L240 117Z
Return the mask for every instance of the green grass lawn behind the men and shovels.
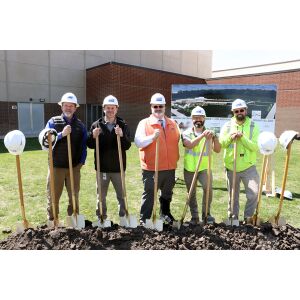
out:
M21 170L23 180L23 190L25 199L26 216L33 226L45 224L46 222L46 176L47 176L47 152L41 151L37 139L27 139L27 148L21 156ZM179 178L174 188L172 201L172 212L179 218L182 213L186 188L183 182L183 148L180 148L181 158L176 171ZM300 227L300 174L298 157L300 154L300 143L295 141L292 147L291 160L286 189L293 193L293 201L284 201L282 216L288 223L295 227ZM126 171L127 197L129 201L130 213L138 218L140 199L142 194L141 170L138 158L138 149L133 144L127 152L128 167ZM215 155L213 165L213 202L212 214L216 221L220 222L227 216L227 199L225 174L222 162L222 153ZM281 180L284 170L285 152L278 146L275 152L276 161L276 186L281 186ZM258 155L257 169L260 172L262 156ZM197 199L199 207L202 198L201 188L197 190ZM242 188L240 195L240 218L243 218L245 205L245 194ZM278 198L262 197L261 217L268 219L274 215L278 208ZM108 216L113 222L118 223L118 206L115 192L110 185L107 196ZM95 189L95 171L93 163L93 151L88 150L86 165L81 172L81 190L80 190L80 209L81 213L89 220L95 220L96 207L96 189ZM67 209L67 194L64 191L60 199L60 218L65 220ZM188 212L186 219L190 218ZM4 228L15 230L17 221L21 220L19 209L18 182L16 172L15 157L8 154L3 146L3 140L0 141L0 239L7 235L2 233Z

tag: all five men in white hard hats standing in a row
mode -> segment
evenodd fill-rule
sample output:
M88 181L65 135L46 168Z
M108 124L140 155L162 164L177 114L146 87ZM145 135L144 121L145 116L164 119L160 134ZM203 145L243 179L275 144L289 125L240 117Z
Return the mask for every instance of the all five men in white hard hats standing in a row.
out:
M52 117L46 125L46 129L55 129L57 141L53 148L53 166L55 178L55 208L59 213L59 199L64 186L66 186L69 198L67 214L73 213L72 191L70 184L70 173L68 163L67 135L70 135L72 150L72 165L74 174L75 199L77 213L79 213L79 190L80 190L80 169L85 163L87 147L95 149L95 170L100 172L101 195L97 193L96 215L100 218L99 205L102 203L102 217L107 218L106 196L110 181L116 192L119 203L119 216L125 215L125 202L122 193L122 181L118 155L117 135L121 141L121 152L123 157L124 172L126 171L126 151L131 147L130 130L126 122L118 116L119 102L112 95L104 98L102 103L103 117L96 120L89 131L85 125L76 117L76 109L79 107L77 98L72 93L66 93L58 103L61 106L62 114ZM219 153L224 149L224 165L227 175L227 186L229 191L228 213L238 219L239 215L239 190L240 181L243 182L246 191L247 203L244 211L244 218L252 217L258 196L259 175L256 171L256 152L258 150L257 138L259 129L247 116L247 104L241 99L232 103L233 117L221 129L220 137L214 131L206 128L206 113L202 107L195 107L192 110L192 128L182 134L177 123L166 116L165 97L156 93L150 100L151 115L141 120L138 124L134 142L139 148L140 163L142 168L142 181L144 191L141 199L140 224L144 225L146 219L151 218L154 204L154 173L155 158L158 155L158 189L160 190L160 217L169 224L175 220L171 213L171 201L173 188L175 186L175 170L179 160L179 142L182 139L185 147L184 153L184 180L189 191L199 158L200 149L203 147L203 157L197 170L197 180L203 189L201 218L205 217L205 199L209 192L207 221L214 222L211 215L211 202L213 198L212 177L208 184L208 156L209 151ZM159 140L159 152L156 153L156 141ZM96 164L96 141L99 143L100 170ZM205 145L204 145L205 143ZM236 158L236 186L234 208L231 212L231 189L233 177L234 154L233 144L237 144ZM212 149L208 145L212 145ZM98 188L98 187L97 187ZM54 219L51 205L50 174L47 178L48 198L48 219ZM99 199L101 197L101 200ZM200 223L196 191L190 198L191 224Z

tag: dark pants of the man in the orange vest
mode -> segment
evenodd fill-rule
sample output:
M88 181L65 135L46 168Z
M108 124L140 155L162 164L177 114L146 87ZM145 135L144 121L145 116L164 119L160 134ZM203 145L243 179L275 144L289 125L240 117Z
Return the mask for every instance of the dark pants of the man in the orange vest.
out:
M145 222L151 218L154 204L154 171L142 170L144 192L142 195L140 218ZM175 185L175 170L158 172L157 187L160 190L159 201L162 207L170 207ZM164 212L162 212L164 213Z

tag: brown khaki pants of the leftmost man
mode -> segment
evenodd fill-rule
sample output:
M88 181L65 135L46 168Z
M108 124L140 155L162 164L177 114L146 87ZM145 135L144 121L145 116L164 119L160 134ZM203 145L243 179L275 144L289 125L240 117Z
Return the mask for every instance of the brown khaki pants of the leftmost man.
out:
M77 213L79 213L79 190L80 190L80 169L82 164L78 164L76 167L73 168L73 175L74 175L74 192L75 192L75 200L76 200L76 207ZM71 191L71 181L70 181L70 170L69 168L53 168L54 171L54 189L55 189L55 210L58 216L59 214L59 199L63 192L64 186L67 188L68 198L69 198L69 205L67 209L68 216L73 214L73 203L72 203L72 191ZM51 193L50 193L50 171L48 170L48 177L47 177L47 214L48 219L53 220L53 212L52 212L52 203L51 203Z

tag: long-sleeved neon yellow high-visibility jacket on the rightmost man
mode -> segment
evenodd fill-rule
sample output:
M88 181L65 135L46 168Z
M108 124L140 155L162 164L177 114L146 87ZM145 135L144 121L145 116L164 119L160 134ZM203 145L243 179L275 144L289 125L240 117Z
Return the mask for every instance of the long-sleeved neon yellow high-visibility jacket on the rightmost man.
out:
M233 170L233 142L230 135L237 131L242 132L243 137L237 141L236 171L242 172L256 164L259 128L249 117L246 117L245 122L241 125L236 123L235 117L223 125L220 143L224 149L224 165L231 171Z

